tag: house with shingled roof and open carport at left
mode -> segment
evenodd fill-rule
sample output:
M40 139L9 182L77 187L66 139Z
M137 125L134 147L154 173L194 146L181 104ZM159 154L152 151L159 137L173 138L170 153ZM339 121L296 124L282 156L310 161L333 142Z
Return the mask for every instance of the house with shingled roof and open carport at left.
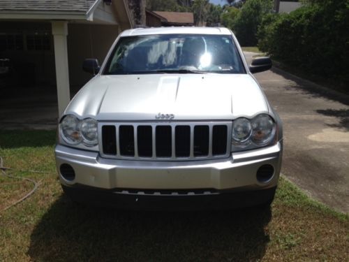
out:
M1 0L0 59L11 65L15 88L57 87L61 115L70 93L91 78L82 61L103 61L117 35L132 27L126 0Z

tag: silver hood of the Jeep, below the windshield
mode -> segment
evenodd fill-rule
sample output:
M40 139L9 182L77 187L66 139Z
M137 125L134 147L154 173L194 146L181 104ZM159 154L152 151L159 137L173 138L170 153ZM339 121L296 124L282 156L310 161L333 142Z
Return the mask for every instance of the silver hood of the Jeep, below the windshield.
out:
M98 120L222 120L268 112L262 90L248 74L97 75L65 114ZM172 118L172 116L171 116Z

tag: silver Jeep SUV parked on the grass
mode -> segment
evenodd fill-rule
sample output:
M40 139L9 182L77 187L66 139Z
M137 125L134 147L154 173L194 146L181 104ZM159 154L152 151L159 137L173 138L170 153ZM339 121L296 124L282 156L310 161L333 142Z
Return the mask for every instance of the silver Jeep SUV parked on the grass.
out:
M131 29L59 120L61 185L119 208L232 208L272 202L282 126L225 28Z

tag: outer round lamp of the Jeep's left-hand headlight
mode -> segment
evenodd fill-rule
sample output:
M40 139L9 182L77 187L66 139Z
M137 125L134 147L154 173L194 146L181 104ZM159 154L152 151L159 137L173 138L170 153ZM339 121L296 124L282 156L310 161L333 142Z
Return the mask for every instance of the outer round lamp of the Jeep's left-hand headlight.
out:
M70 145L77 145L82 141L80 134L80 121L73 115L66 115L59 124L61 137Z

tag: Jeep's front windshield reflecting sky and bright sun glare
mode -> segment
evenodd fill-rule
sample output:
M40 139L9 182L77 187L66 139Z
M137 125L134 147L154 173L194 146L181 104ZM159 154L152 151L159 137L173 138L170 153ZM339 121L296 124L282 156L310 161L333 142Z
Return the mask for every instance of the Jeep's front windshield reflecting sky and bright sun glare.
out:
M122 37L104 73L246 72L232 36L186 34Z

